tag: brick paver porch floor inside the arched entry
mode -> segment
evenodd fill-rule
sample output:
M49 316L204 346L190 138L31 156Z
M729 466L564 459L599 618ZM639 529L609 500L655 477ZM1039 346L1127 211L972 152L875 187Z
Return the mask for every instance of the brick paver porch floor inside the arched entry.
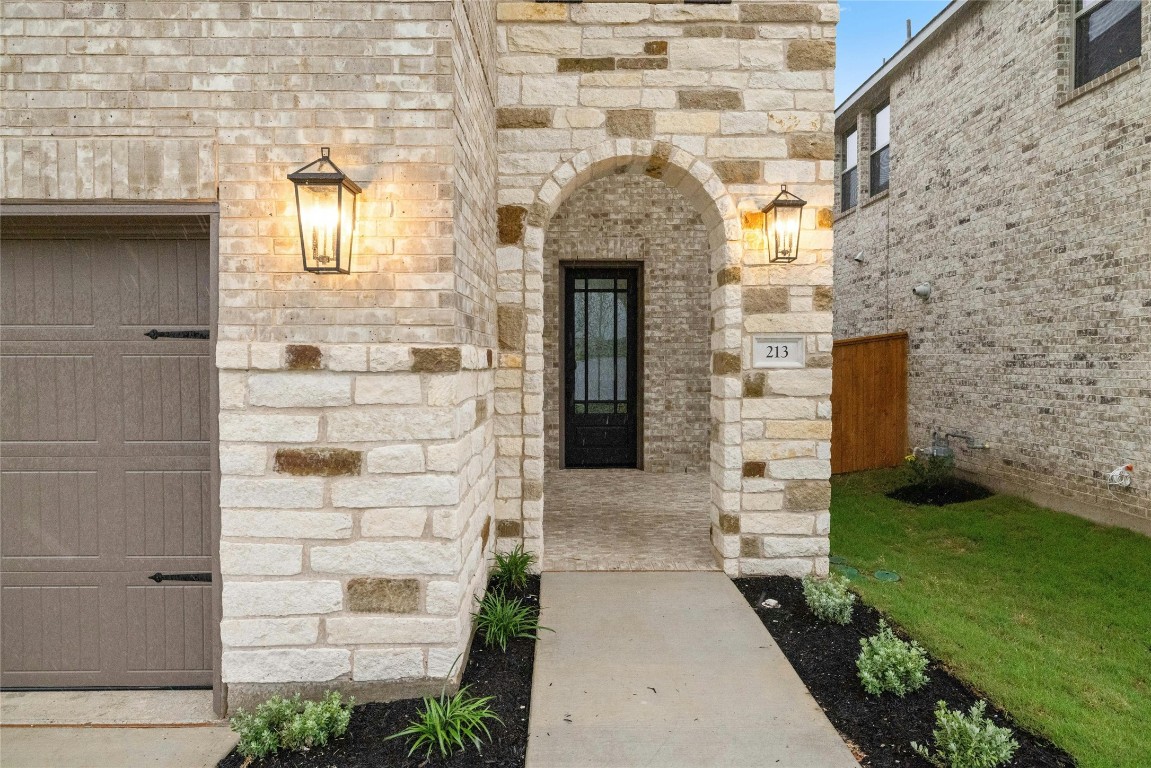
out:
M706 472L549 470L546 571L714 571Z

